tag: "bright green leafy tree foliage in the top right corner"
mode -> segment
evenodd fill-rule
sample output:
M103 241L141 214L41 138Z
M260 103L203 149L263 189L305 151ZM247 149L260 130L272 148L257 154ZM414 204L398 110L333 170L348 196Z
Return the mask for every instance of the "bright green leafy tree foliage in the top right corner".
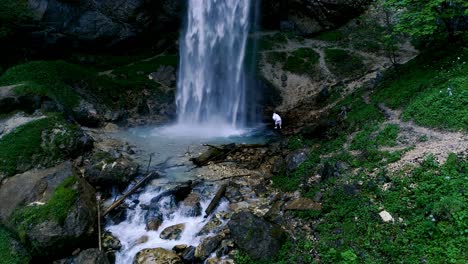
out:
M446 34L453 40L468 28L466 0L386 0L398 14L396 30L415 37Z

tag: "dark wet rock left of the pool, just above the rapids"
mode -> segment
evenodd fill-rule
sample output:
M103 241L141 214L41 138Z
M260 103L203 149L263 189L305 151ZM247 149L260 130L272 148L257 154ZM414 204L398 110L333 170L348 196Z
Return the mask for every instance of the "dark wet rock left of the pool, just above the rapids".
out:
M106 152L95 152L85 166L85 177L93 186L123 187L135 178L138 163L127 157L114 158Z

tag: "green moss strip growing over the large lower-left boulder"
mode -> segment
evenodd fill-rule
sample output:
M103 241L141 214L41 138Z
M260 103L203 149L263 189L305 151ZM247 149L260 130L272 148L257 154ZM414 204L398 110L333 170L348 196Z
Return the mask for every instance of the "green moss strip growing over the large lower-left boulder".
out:
M17 227L23 242L26 230L44 221L54 221L62 225L76 202L78 192L74 188L77 179L70 176L65 179L44 205L25 206L17 209L10 221Z

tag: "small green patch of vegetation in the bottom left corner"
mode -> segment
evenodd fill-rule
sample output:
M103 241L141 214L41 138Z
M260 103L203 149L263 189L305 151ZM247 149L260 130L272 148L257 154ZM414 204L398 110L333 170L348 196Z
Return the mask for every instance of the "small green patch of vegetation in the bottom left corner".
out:
M12 234L0 226L0 264L29 263L29 256L15 245L13 239Z

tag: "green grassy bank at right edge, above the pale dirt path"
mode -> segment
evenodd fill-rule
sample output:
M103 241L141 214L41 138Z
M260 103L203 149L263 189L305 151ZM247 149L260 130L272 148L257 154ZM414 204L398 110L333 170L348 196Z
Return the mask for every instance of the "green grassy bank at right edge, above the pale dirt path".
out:
M404 120L448 130L468 130L468 49L421 54L386 75L372 100L403 109Z

